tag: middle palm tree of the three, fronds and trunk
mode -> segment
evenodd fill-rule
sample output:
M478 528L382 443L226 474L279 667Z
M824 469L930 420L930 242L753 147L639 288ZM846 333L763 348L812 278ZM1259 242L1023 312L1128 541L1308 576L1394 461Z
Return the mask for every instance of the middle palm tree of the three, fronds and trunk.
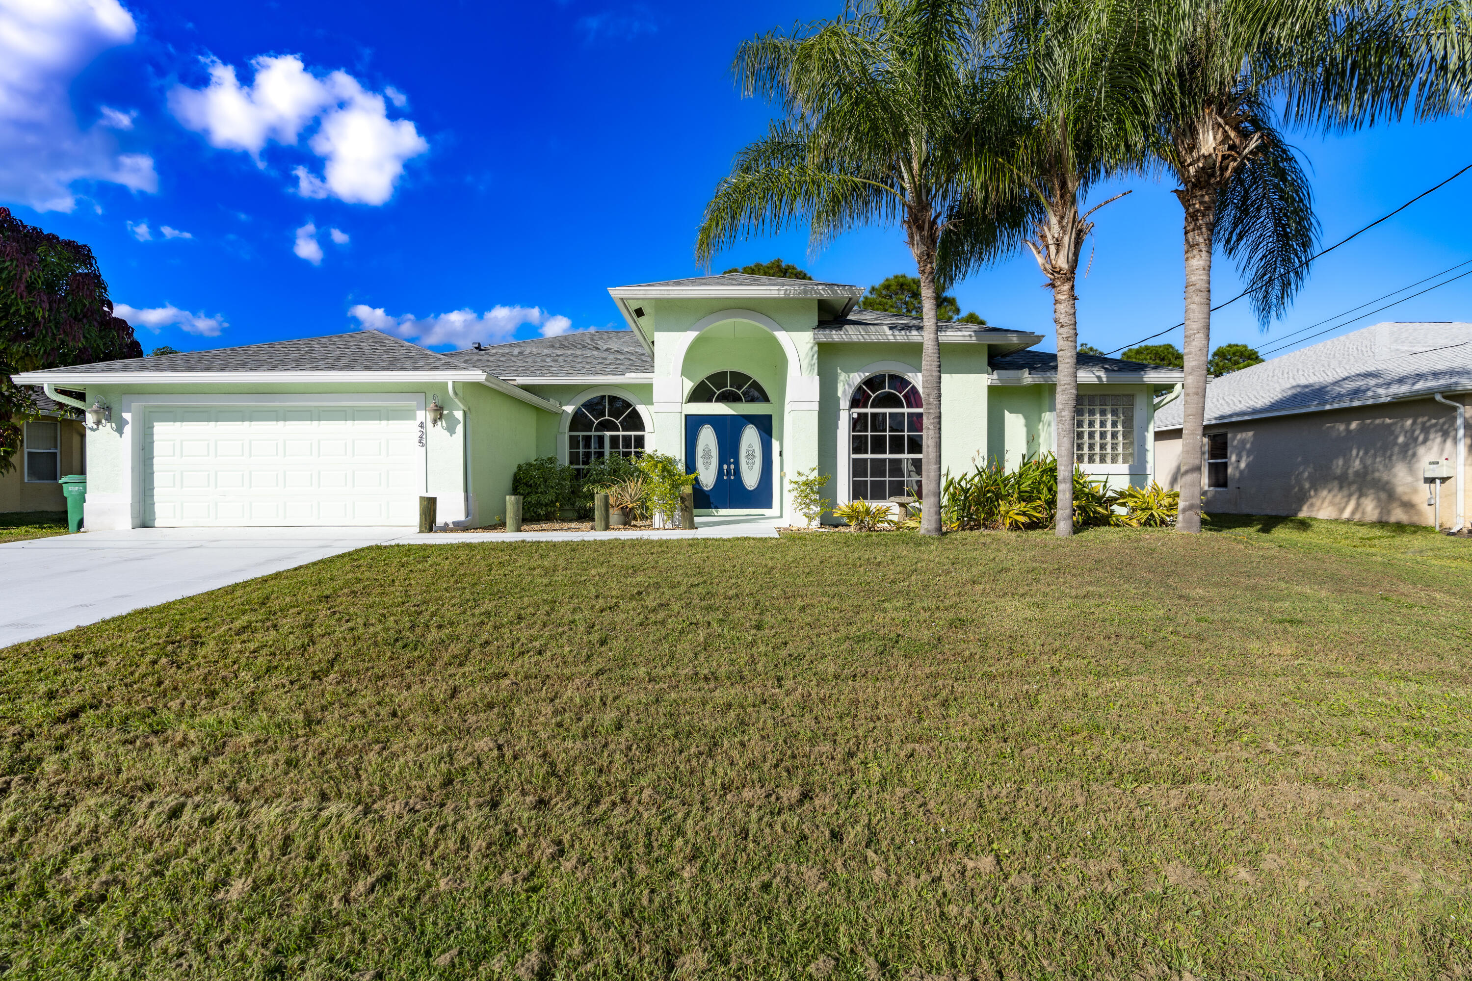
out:
M1052 290L1058 382L1054 412L1058 459L1058 509L1054 531L1073 534L1075 416L1078 407L1079 253L1094 229L1083 199L1098 181L1148 159L1148 59L1136 50L1148 7L1132 0L1044 3L1030 22L1011 31L1016 57L999 99L989 104L1010 121L986 121L1011 134L998 141L1002 156L979 154L982 179L1007 194L1008 184L1030 196L1035 221L1027 249ZM983 151L989 147L980 147Z

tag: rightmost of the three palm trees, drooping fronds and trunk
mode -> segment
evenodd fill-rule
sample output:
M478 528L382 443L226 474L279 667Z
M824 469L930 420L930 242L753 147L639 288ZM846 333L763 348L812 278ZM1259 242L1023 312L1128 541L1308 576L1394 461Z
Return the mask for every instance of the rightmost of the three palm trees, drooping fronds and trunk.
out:
M1211 256L1236 260L1263 327L1309 272L1319 225L1278 128L1356 128L1415 101L1426 118L1466 101L1460 0L1156 0L1157 154L1185 212L1185 415L1178 528L1201 529L1201 424L1211 338Z

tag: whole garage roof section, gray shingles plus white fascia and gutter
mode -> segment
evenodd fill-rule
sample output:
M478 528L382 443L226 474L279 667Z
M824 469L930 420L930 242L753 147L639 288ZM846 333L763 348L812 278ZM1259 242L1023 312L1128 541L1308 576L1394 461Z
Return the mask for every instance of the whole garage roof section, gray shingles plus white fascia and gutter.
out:
M483 382L548 410L555 404L484 369L462 365L380 331L353 331L294 341L221 347L209 352L47 368L15 375L18 384L100 385L199 382Z

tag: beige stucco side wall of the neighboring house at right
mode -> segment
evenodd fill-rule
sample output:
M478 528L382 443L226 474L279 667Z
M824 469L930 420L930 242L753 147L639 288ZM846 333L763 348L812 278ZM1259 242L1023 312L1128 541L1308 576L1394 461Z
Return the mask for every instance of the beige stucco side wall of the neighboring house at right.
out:
M1456 410L1426 399L1211 425L1206 432L1228 434L1229 457L1228 487L1206 491L1209 512L1429 525L1426 460L1456 463ZM1167 487L1181 485L1179 429L1157 437L1156 475ZM1457 493L1456 478L1443 484L1444 528L1451 527Z

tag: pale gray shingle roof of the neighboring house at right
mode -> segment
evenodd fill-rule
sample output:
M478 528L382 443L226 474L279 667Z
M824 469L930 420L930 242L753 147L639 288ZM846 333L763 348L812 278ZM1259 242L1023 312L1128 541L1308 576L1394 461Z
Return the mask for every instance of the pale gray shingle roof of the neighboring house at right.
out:
M1472 324L1376 324L1213 379L1206 421L1460 390L1472 390ZM1156 428L1181 416L1176 399Z

